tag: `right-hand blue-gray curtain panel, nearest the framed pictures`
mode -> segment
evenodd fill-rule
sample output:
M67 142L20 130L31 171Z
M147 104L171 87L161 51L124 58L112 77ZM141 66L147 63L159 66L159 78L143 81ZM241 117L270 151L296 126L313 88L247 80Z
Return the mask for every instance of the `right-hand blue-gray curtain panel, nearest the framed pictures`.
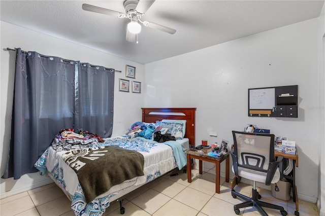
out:
M114 70L89 63L79 65L76 125L106 138L113 130Z

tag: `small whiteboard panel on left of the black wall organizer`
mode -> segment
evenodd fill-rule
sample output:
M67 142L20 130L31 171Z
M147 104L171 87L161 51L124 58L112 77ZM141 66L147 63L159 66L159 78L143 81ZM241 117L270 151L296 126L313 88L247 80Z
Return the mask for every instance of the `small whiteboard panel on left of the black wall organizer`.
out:
M275 88L249 89L249 110L272 110Z

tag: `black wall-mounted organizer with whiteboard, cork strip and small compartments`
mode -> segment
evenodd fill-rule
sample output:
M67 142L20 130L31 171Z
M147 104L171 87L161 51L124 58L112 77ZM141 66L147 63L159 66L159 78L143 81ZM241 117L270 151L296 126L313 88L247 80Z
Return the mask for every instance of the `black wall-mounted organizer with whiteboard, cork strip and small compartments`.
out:
M298 85L248 89L248 116L298 118Z

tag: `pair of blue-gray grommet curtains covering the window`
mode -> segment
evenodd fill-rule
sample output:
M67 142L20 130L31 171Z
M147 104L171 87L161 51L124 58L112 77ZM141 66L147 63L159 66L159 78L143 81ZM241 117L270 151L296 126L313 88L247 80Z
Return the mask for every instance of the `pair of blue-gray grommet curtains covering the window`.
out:
M111 136L114 71L16 49L10 153L2 177L36 172L34 163L62 128Z

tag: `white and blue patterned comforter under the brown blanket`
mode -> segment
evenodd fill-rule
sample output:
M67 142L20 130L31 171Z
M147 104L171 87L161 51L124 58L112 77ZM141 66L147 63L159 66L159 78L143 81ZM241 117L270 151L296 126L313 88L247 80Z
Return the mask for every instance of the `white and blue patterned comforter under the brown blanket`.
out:
M138 177L137 179L133 179L129 182L126 182L125 185L128 186L125 187L145 184L146 182L152 181L156 177L166 173L167 171L173 169L176 166L181 169L186 165L185 153L182 151L181 146L176 141L157 143L153 140L148 140L143 137L136 137L133 139L118 137L113 139L106 139L105 142L99 143L99 147L115 145L118 145L119 147L124 149L135 150L142 153L145 157L146 162L150 161L150 163L158 164L159 162L165 160L164 166L152 166L151 164L146 164L144 168L145 176ZM172 150L167 146L170 146ZM161 151L170 151L171 153L170 156L168 156L169 158L150 158L153 157L152 155L158 155L159 157L162 157L161 155L166 155L166 153L161 154ZM106 208L109 206L110 199L115 195L121 193L122 191L112 192L105 197L94 199L93 201L87 204L80 184L71 187L71 185L75 185L71 183L72 177L65 176L67 175L67 173L69 173L69 170L64 171L67 168L64 167L65 163L62 160L62 155L66 152L67 151L56 152L55 150L53 150L52 147L49 147L39 158L39 160L35 163L35 167L40 170L41 175L44 175L46 170L48 170L52 174L52 178L57 183L57 185L59 185L63 190L67 191L68 195L72 194L70 197L72 200L71 207L76 215L102 215L105 212ZM152 162L153 160L158 162ZM56 161L55 164L51 164L53 163L53 161ZM170 167L165 167L166 161L168 162L167 164L170 164ZM161 170L161 168L163 168L164 170Z

